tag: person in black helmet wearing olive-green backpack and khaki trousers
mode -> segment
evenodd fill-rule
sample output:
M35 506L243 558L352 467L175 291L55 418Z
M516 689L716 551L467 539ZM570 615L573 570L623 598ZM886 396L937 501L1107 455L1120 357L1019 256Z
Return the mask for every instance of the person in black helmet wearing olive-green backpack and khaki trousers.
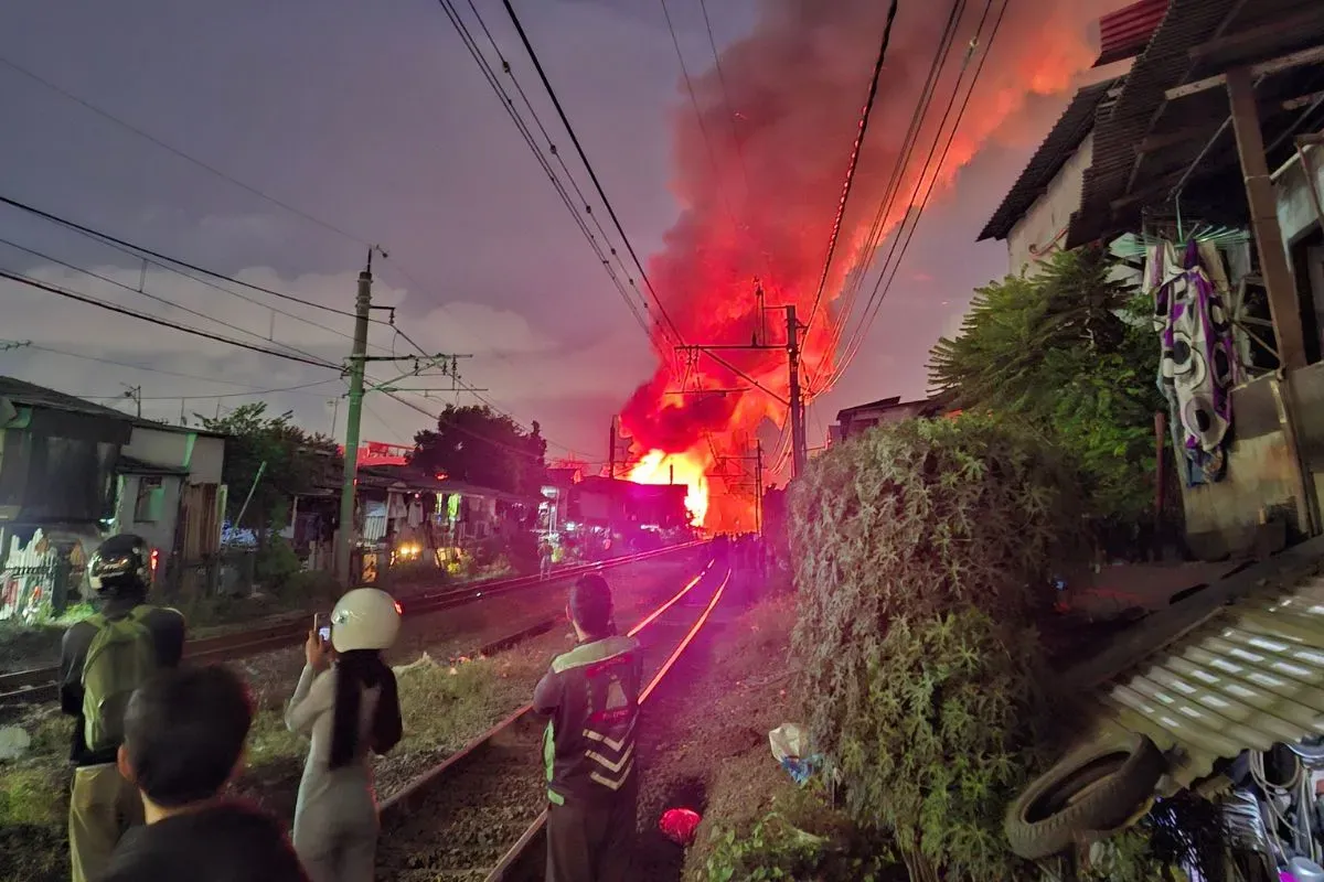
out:
M151 547L142 537L106 540L87 563L98 611L70 627L60 648L60 707L77 721L69 797L74 882L102 875L124 830L143 821L138 791L117 767L124 707L138 686L179 666L184 653L184 616L147 603L151 575Z

